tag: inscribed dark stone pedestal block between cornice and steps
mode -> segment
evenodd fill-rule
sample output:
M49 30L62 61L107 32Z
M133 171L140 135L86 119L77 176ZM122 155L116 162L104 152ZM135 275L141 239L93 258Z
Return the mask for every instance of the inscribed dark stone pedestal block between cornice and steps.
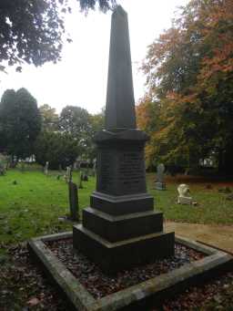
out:
M97 146L96 191L110 195L147 192L144 146L119 141Z

